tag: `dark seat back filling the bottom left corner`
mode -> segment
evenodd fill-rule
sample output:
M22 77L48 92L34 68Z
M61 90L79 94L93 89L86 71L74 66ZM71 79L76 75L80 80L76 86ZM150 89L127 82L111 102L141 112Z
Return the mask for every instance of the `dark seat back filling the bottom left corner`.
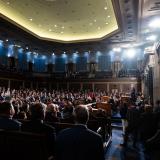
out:
M2 139L2 137L4 139ZM19 131L0 131L0 159L47 160L45 136ZM2 145L3 144L3 145Z

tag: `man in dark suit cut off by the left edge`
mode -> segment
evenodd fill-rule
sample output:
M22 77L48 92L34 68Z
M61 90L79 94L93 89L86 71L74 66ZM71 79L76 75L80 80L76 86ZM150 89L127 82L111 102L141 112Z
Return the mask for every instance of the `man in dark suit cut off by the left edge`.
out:
M0 129L20 130L21 123L13 120L14 108L9 102L0 103Z

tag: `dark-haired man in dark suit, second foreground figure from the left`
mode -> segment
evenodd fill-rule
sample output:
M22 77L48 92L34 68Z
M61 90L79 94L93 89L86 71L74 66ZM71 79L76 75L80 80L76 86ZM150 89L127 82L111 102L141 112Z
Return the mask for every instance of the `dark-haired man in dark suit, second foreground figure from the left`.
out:
M49 156L54 155L55 129L43 122L45 118L45 106L42 103L33 103L30 106L31 120L22 124L22 131L42 134L46 136Z

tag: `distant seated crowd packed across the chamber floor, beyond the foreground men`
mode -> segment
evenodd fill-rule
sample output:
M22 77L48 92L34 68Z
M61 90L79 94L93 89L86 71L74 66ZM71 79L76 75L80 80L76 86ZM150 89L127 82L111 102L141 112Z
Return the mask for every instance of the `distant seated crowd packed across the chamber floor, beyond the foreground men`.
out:
M111 104L112 112L116 113L119 110L121 97L124 95L124 93L109 94L106 91L11 90L0 87L0 102L10 101L15 109L14 117L20 119L27 118L29 105L34 102L46 105L47 114L48 112L52 112L52 114L58 114L61 118L66 118L72 113L75 105L103 102L104 96L110 98L108 103ZM47 115L47 117L49 116Z

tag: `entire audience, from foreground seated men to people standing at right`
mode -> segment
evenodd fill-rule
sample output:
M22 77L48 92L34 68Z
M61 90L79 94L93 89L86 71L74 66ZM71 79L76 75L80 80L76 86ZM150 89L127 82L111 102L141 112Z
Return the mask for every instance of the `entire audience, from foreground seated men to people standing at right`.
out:
M91 156L93 156L92 160L103 160L102 137L89 130L86 124L89 119L107 118L108 115L103 109L97 109L96 115L92 115L95 103L102 102L104 96L109 96L107 103L111 105L113 113L120 112L124 137L124 142L121 144L123 147L127 146L130 134L133 137L133 147L136 147L138 139L147 148L151 148L151 145L156 147L156 143L158 145L160 101L157 101L156 106L153 107L145 101L142 94L136 93L135 89L132 89L130 95L126 96L124 93L109 95L105 91L53 90L50 92L45 89L43 91L9 88L6 90L1 87L0 129L47 135L48 154L56 156L57 160L63 160L66 157L71 160L87 160ZM90 105L86 107L85 104ZM27 121L21 123L19 120ZM76 123L77 125L57 135L55 128L49 125L53 122ZM78 152L80 148L81 154Z

